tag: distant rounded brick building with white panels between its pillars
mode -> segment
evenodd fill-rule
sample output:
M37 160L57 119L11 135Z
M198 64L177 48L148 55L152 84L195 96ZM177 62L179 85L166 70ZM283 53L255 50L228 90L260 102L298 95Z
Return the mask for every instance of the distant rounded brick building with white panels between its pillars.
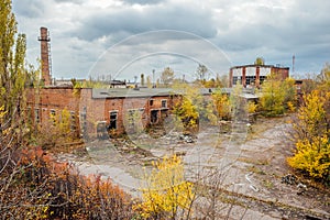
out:
M284 80L289 77L289 67L273 65L233 66L229 72L229 87L241 84L243 87L255 86L258 88L271 73L275 74L279 80Z

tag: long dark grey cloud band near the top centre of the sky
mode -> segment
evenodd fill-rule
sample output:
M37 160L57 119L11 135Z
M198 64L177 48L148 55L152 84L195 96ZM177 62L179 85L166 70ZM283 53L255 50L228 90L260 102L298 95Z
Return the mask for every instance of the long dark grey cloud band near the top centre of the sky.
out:
M202 37L217 33L210 11L178 4L150 7L143 11L132 8L103 10L84 19L73 34L92 41L117 33L131 35L154 30L187 31Z

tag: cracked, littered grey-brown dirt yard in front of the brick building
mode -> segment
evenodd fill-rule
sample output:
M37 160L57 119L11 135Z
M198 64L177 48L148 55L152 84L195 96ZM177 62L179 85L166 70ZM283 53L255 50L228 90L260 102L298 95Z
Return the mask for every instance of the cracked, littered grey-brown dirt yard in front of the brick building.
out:
M220 172L221 190L235 199L231 219L330 219L329 190L297 177L287 166L293 153L289 117L231 124L231 132L223 127L200 128L193 138L167 129L158 136L91 141L84 157L59 154L58 160L76 164L81 174L109 177L139 196L143 167L175 153L183 156L193 182L196 176L208 179L209 170Z

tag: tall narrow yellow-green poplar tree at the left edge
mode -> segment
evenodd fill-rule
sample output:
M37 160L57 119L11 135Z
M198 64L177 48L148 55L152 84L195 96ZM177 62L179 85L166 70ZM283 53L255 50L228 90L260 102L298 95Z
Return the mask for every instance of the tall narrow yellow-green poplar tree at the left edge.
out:
M20 119L24 109L23 92L28 73L25 66L26 37L18 34L16 21L11 11L11 1L0 2L0 85L3 90L0 106L4 106L7 118Z

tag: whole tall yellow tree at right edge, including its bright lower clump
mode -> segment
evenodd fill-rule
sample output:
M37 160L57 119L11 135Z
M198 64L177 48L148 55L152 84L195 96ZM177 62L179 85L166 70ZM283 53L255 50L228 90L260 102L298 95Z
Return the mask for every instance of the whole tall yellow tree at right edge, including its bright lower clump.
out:
M330 92L305 95L294 123L296 150L288 164L314 178L330 184L330 117L326 108Z

